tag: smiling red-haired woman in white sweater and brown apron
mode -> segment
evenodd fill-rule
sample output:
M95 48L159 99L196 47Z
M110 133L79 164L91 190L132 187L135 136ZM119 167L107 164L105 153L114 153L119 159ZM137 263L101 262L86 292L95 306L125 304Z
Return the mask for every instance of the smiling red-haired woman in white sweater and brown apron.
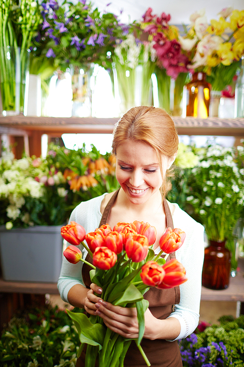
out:
M178 136L171 117L159 108L134 107L122 116L114 130L112 152L116 156L117 192L82 202L72 212L70 221L81 224L86 232L102 224L111 228L118 222L148 222L157 229L154 244L159 253L159 239L167 227L186 233L183 246L168 257L176 257L188 280L180 287L159 290L150 288L145 312L142 349L154 367L181 367L178 339L191 334L198 325L203 266L203 226L177 204L165 200L167 178L178 149ZM87 252L81 248L83 257ZM89 255L88 255L89 256ZM102 290L91 284L90 267L70 264L63 259L58 282L61 298L86 312L99 315L112 331L125 338L137 338L135 308L122 308L95 295ZM82 273L82 275L81 275ZM84 357L77 361L84 366ZM131 343L124 366L144 367L145 362L135 343Z

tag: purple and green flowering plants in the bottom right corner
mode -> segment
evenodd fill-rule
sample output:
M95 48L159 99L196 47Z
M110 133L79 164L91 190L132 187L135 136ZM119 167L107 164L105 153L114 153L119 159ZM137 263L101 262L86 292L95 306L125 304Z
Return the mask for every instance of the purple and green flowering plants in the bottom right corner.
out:
M220 318L220 324L200 327L179 341L183 367L241 367L244 365L244 316ZM201 325L199 325L201 326Z

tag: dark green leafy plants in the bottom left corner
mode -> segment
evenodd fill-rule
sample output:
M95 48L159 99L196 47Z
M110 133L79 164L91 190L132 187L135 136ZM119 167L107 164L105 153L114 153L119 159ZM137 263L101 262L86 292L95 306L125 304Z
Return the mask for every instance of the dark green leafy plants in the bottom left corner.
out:
M0 339L1 367L75 367L79 337L67 313L56 306L14 316Z

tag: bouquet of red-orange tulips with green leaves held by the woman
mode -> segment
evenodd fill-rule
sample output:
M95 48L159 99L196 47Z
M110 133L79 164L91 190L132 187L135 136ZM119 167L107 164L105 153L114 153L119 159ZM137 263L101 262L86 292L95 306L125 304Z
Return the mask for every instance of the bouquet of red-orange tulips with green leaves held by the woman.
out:
M143 294L149 287L173 288L187 280L179 261L171 259L166 263L168 254L182 246L185 233L181 229L167 228L160 239L158 255L153 251L156 229L149 223L118 223L113 229L105 224L94 232L85 233L81 225L70 222L62 227L61 235L71 244L63 252L65 258L72 264L81 260L91 266L91 281L102 288L101 298L104 301L137 308L139 336L135 341L147 366L150 366L140 345L145 328L144 313L148 307ZM76 247L80 244L92 256L93 264L82 258L80 249ZM166 253L164 258L160 256L163 252ZM78 357L87 344L86 367L94 367L97 358L99 367L123 366L132 339L112 332L99 316L92 315L88 319L83 312L67 312L81 341Z

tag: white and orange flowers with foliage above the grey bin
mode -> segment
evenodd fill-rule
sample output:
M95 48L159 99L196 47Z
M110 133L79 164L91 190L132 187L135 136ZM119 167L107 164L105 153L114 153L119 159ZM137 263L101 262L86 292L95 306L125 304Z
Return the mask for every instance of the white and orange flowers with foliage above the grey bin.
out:
M0 225L62 225L81 201L118 188L108 154L49 148L46 159L0 159Z

